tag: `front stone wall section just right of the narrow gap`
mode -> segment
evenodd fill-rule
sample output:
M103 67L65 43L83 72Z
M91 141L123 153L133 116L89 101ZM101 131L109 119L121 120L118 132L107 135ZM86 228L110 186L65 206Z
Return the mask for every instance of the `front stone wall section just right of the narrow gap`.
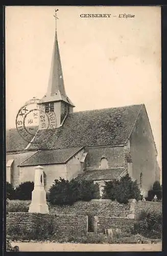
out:
M95 217L97 220L97 232L104 232L104 229L119 228L119 229L130 229L134 225L134 219L122 218L122 217L107 217L98 216ZM96 227L95 227L96 229Z

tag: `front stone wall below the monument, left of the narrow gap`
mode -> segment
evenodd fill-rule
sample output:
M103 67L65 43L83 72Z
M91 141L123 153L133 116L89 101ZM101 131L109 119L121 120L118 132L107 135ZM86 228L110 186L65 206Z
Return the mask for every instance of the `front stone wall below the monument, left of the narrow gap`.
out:
M83 236L87 229L88 217L83 215L10 212L6 219L6 233L16 241Z

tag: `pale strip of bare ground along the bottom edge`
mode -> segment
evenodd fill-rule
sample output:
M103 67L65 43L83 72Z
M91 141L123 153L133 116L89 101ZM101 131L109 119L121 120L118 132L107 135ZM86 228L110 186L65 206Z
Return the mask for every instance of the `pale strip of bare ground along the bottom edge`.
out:
M75 244L51 242L12 242L20 251L161 251L162 243L157 244Z

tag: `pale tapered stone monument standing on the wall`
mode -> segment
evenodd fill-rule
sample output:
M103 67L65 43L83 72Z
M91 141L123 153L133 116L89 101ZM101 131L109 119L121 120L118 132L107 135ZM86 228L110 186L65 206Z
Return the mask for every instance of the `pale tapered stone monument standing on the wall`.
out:
M44 190L43 167L40 165L35 168L34 190L32 191L29 212L49 214L49 209L46 203L46 192Z

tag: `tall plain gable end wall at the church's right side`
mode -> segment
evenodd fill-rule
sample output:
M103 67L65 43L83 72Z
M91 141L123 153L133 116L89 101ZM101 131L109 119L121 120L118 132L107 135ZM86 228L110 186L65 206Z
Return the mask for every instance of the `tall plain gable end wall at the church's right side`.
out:
M140 185L140 173L142 173L142 189L146 191L152 186L158 177L156 148L152 135L146 109L143 107L136 120L130 137L130 152L132 157L132 176Z

